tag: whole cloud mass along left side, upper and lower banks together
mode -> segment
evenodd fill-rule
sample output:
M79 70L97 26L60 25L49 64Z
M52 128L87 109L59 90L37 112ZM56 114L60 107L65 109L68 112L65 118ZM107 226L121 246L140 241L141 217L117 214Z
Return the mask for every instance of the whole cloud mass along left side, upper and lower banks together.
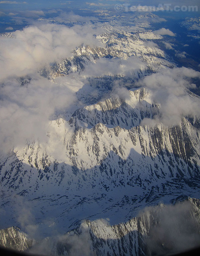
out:
M72 56L76 46L98 46L94 32L89 26L35 23L13 32L15 38L0 37L1 149L23 146L31 138L46 142L52 116L78 104L74 88L79 81L66 77L52 83L37 71ZM35 79L20 87L20 77L28 75Z

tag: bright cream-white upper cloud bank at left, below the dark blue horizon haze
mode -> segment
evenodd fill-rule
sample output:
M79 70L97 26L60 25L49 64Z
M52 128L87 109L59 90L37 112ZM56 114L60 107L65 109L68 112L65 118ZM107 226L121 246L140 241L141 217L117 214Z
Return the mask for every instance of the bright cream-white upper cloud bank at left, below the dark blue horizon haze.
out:
M71 56L81 44L96 45L94 30L88 26L36 23L15 31L15 38L0 37L0 79L25 76L52 62Z

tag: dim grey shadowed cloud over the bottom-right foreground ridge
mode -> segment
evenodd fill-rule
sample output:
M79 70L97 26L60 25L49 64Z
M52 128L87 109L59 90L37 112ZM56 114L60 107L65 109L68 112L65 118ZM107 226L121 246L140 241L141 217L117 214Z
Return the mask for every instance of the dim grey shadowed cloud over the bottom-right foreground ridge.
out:
M199 219L195 207L189 201L172 205L147 207L141 214L156 219L150 227L146 243L150 252L155 255L168 255L185 252L200 245L198 233ZM159 224L158 224L159 223Z

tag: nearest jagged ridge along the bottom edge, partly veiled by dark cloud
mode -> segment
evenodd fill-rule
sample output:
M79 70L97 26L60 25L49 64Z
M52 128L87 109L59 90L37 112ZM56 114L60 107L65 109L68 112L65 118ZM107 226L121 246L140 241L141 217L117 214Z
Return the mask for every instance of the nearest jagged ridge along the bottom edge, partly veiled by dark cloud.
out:
M30 239L17 227L0 230L0 245L44 255L169 255L200 245L200 201L188 198L148 207L138 217L111 226L107 220L85 220L62 236Z

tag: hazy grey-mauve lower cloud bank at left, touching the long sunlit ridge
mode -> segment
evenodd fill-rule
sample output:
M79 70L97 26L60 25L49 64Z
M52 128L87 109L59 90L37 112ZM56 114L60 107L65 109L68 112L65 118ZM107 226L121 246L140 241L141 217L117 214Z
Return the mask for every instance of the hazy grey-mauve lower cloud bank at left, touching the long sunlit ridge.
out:
M53 83L37 78L20 87L17 79L10 79L0 88L0 144L5 152L12 147L24 147L26 140L48 141L49 122L55 113L71 111L78 104L73 87L78 82L60 79Z

